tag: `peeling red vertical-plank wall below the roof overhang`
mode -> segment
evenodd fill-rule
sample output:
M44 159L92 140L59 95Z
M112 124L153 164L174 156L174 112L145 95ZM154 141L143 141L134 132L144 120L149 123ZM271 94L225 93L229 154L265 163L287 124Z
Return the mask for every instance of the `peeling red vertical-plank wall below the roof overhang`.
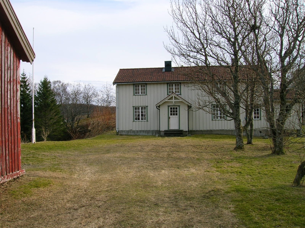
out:
M0 183L24 174L20 141L20 58L0 23Z

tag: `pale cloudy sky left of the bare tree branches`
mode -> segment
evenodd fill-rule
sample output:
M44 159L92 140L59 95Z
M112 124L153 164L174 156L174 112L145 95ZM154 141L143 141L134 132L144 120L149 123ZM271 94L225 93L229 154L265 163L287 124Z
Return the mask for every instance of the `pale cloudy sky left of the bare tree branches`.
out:
M170 0L10 0L34 46L34 82L112 83L120 68L164 67ZM34 45L33 45L34 28ZM32 65L20 71L32 75Z

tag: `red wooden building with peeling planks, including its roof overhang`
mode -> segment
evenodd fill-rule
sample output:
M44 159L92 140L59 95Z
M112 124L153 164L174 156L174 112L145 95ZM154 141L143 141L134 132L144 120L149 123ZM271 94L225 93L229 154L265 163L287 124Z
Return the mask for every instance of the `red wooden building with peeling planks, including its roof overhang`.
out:
M24 174L20 148L20 60L35 53L9 0L0 0L0 183Z

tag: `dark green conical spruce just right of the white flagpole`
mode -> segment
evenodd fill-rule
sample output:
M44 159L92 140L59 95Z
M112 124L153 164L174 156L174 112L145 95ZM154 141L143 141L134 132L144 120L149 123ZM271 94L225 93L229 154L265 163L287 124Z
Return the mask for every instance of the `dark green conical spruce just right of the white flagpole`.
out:
M45 76L40 81L35 95L35 128L38 141L62 140L63 117L56 103L51 81Z

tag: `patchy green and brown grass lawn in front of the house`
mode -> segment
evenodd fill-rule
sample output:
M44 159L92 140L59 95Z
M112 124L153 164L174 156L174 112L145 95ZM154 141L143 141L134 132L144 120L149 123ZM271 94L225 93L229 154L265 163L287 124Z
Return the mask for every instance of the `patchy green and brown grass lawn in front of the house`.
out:
M22 144L0 227L305 227L299 158L234 136L117 136Z

